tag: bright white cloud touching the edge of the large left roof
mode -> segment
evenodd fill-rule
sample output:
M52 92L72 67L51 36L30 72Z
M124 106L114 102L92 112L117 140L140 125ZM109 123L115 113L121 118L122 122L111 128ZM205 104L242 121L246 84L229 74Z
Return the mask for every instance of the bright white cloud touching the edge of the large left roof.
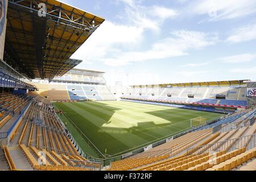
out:
M142 40L142 28L118 25L106 20L93 32L92 36L75 52L73 58L93 62L108 57L109 53L118 55L121 47L136 47Z

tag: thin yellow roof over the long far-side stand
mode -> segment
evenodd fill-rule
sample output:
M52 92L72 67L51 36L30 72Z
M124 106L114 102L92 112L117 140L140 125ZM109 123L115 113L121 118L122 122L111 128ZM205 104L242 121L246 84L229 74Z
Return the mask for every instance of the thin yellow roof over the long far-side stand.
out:
M166 86L210 86L210 85L236 85L245 84L249 80L231 80L231 81L206 81L206 82L187 82L187 83L176 83L176 84L154 84L161 87ZM131 86L153 86L153 85L131 85Z

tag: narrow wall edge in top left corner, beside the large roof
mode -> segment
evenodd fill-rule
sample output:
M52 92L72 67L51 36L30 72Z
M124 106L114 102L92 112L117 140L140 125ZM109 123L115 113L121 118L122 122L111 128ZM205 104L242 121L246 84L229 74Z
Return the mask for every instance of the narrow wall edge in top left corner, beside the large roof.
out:
M3 60L3 51L5 49L5 32L6 32L6 14L7 0L0 0L0 59Z

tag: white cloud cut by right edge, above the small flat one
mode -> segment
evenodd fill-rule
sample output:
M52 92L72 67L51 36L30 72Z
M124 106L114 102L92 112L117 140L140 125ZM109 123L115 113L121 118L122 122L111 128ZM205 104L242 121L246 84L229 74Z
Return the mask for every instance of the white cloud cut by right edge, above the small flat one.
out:
M226 39L227 42L240 43L256 39L256 24L238 28Z

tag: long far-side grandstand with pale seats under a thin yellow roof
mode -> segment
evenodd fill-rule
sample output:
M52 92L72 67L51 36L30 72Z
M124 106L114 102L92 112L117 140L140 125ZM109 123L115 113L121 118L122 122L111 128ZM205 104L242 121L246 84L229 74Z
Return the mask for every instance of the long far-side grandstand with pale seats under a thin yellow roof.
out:
M230 113L237 108L247 107L245 81L134 85L127 89L121 98Z

